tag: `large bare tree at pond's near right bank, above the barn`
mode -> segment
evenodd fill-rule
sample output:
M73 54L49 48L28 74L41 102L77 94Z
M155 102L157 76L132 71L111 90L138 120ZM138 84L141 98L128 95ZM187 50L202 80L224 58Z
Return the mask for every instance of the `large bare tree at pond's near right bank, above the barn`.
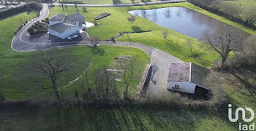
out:
M222 66L230 52L238 51L244 39L244 32L229 25L220 25L216 31L205 31L203 43L214 49L222 57Z

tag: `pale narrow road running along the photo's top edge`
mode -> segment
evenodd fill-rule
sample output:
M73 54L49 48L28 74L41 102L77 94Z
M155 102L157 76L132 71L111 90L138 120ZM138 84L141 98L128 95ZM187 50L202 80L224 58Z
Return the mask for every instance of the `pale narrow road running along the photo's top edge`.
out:
M178 3L187 0L167 0L167 1L150 1L147 3L124 3L124 4L77 4L78 7L130 7L130 6L143 6L152 4L168 4L168 3ZM54 3L56 6L61 6L60 3ZM67 6L75 6L75 4L63 4Z

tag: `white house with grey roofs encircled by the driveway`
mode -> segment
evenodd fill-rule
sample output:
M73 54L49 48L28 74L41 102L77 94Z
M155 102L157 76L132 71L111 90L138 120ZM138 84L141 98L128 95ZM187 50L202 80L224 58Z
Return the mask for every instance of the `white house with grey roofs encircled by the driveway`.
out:
M49 33L62 39L66 39L74 33L80 33L82 28L86 28L86 18L79 13L67 16L57 14L49 19Z

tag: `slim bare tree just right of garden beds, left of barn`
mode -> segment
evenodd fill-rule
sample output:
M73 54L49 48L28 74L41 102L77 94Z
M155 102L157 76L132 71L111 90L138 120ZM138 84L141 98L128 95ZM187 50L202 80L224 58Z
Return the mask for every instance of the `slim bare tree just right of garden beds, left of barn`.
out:
M125 84L124 98L128 99L129 87L141 74L142 63L138 57L131 57L130 60L124 60L121 65L121 78Z

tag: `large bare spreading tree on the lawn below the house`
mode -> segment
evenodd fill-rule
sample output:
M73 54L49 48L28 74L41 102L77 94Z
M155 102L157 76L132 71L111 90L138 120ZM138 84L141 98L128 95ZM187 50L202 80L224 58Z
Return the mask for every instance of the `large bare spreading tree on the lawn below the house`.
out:
M72 60L74 59L72 56L68 49L40 51L31 59L29 65L23 67L23 71L29 81L34 82L37 87L52 88L59 103L63 103L57 82L60 76L64 76L64 73L72 70Z

